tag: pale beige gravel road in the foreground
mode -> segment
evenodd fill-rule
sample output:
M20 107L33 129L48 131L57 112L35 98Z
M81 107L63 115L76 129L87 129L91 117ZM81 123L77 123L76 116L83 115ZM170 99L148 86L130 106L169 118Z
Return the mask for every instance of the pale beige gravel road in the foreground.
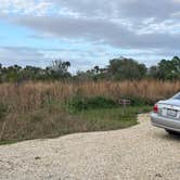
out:
M0 146L4 180L179 180L180 138L140 115L129 129Z

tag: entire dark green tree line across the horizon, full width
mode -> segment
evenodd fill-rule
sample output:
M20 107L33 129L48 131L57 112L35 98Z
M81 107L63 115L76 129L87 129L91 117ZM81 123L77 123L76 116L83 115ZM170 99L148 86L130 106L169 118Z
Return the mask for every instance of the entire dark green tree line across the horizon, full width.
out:
M133 59L117 57L110 60L106 67L94 66L91 69L69 73L70 63L62 60L53 61L46 68L35 66L13 65L4 67L0 64L0 82L25 81L25 80L137 80L154 78L159 80L180 79L180 59L173 56L171 60L162 60L157 65L146 67Z

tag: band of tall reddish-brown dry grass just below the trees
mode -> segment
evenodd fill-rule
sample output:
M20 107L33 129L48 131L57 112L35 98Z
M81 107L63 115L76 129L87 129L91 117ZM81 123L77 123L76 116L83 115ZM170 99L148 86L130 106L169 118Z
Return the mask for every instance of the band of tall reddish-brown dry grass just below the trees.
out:
M100 82L25 82L1 83L0 103L11 112L29 112L40 108L47 101L64 102L74 95L105 95L115 100L121 97L140 97L153 102L180 91L180 81L100 81Z

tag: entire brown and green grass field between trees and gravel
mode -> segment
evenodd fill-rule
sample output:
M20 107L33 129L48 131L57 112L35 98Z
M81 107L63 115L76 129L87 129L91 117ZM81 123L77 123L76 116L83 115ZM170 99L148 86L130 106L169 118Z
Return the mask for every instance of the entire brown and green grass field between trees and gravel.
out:
M179 81L156 80L1 83L0 143L126 128L179 90ZM121 98L132 106L120 106Z

